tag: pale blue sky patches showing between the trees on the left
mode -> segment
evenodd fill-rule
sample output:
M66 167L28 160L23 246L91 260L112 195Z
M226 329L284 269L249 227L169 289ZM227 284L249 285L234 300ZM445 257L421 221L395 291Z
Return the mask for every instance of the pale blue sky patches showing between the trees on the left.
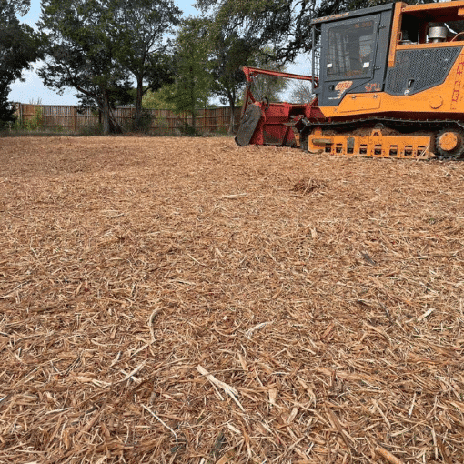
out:
M184 12L185 16L195 15L197 13L197 10L192 6L195 0L177 0L175 3ZM20 18L20 21L35 27L35 23L38 21L39 16L40 0L32 0L31 10L27 15ZM66 88L63 96L59 96L53 90L46 88L42 84L42 80L35 72L40 66L40 63L36 63L34 69L23 73L25 82L20 82L18 80L11 86L11 93L8 96L8 100L19 103L36 103L40 101L42 105L77 105L78 101L76 96L74 96L74 94L76 94L75 89Z

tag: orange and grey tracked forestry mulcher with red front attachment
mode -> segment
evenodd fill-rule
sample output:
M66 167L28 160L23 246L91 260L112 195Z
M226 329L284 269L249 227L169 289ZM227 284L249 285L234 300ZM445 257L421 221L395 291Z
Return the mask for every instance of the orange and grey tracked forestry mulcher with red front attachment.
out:
M463 0L379 5L311 25L314 76L243 67L239 146L300 146L343 156L464 156ZM270 103L254 86L261 75L310 81L312 101Z

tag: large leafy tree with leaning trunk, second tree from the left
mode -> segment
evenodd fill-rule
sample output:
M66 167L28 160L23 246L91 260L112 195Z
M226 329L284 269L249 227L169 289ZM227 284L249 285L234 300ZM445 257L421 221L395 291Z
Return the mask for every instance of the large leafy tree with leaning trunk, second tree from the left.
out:
M108 17L107 2L43 0L39 23L48 36L39 76L59 93L74 87L79 97L95 102L104 134L111 129L112 93L128 87L128 74L116 61L116 44L106 34Z

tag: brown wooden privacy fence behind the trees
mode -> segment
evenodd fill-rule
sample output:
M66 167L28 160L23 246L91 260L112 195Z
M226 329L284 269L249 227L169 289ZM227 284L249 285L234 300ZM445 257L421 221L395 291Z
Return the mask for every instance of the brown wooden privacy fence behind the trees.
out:
M100 116L91 108L80 109L79 106L27 105L16 103L16 116L19 122L26 124L34 121L37 127L50 130L79 132L98 126ZM192 116L176 114L168 109L147 109L146 114L152 116L149 131L159 136L177 136L182 128L192 126ZM133 107L116 108L113 114L116 121L130 130L134 120ZM241 108L235 109L235 127L237 132ZM198 132L227 132L230 124L231 109L228 106L200 109L196 116Z

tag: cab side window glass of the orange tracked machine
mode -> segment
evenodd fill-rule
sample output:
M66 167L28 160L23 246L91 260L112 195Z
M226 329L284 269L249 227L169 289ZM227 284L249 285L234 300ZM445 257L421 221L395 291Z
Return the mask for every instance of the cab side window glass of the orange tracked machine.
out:
M371 19L328 29L328 77L370 76L376 42L374 25Z

